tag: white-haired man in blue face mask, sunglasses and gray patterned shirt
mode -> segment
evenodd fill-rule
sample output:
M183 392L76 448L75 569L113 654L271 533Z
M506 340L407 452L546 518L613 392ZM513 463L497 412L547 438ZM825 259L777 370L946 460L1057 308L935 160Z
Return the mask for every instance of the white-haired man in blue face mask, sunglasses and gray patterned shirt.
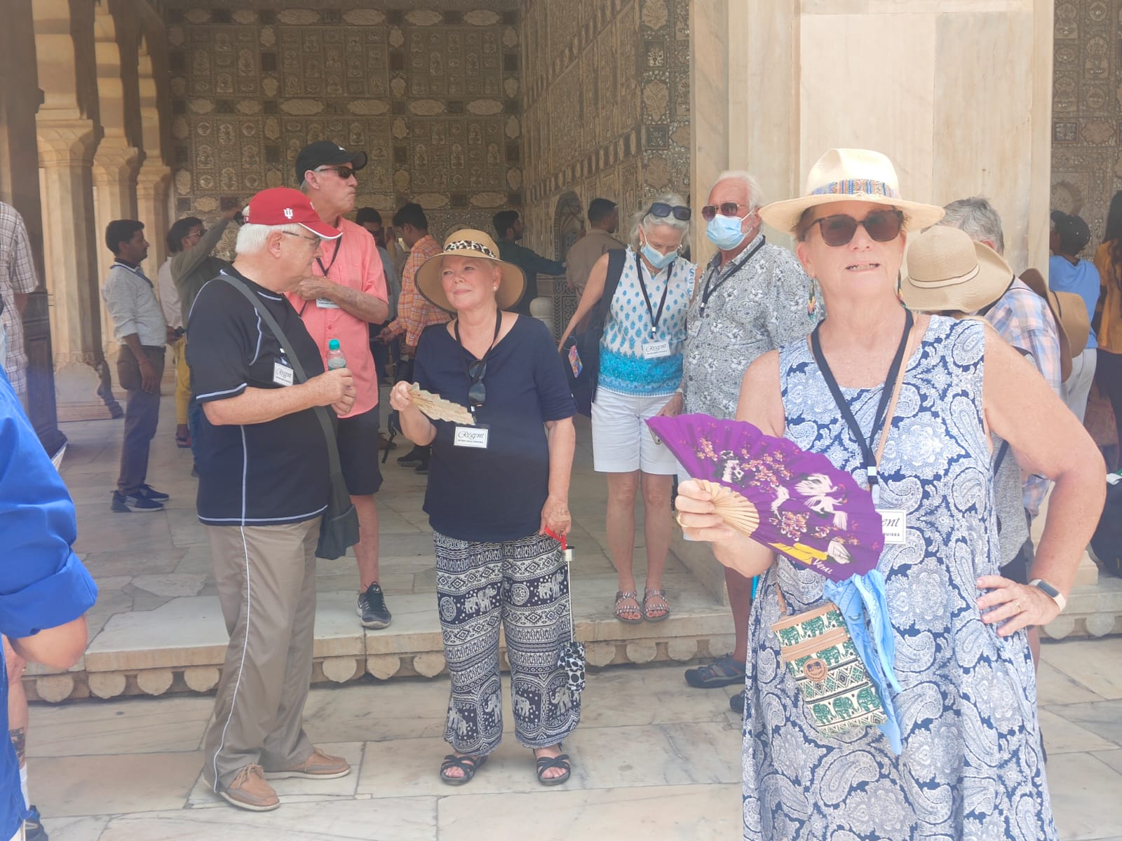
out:
M804 338L821 317L815 281L787 249L760 232L760 186L748 173L721 173L701 209L706 235L718 251L698 281L686 324L682 386L686 412L736 417L741 378L767 351ZM752 581L729 567L725 586L733 610L733 651L686 672L698 688L744 684ZM732 708L744 712L744 694Z

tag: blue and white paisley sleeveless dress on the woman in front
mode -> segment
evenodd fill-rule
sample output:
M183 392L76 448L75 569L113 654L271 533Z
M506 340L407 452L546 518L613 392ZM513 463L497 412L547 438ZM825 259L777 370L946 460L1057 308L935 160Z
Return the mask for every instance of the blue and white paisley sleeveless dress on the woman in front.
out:
M744 730L744 838L784 841L1056 839L1024 632L983 625L977 576L997 572L991 454L982 425L984 329L932 317L881 461L882 505L908 511L886 579L903 752L876 728L831 739L779 655L776 580L791 611L822 579L780 560L753 606ZM780 351L787 437L864 486L861 451L807 342ZM843 389L866 434L881 388Z

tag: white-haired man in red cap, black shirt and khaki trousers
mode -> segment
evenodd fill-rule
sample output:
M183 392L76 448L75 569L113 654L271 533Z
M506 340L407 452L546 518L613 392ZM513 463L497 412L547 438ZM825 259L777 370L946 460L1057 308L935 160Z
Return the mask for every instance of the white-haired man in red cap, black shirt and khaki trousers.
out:
M268 778L332 779L350 773L303 730L312 673L315 547L328 507L329 442L315 407L347 415L351 372L323 358L285 293L307 277L324 223L297 190L258 193L238 231L237 257L195 298L187 323L191 390L202 405L195 442L199 519L206 527L230 643L203 776L240 808L280 805ZM276 318L289 360L248 289ZM293 361L307 380L296 381Z

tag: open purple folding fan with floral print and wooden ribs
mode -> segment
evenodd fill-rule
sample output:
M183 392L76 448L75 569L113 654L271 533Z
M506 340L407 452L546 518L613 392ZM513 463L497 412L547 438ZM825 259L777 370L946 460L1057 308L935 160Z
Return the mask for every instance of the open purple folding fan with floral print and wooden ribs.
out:
M679 415L646 423L710 491L729 527L831 581L876 567L884 532L873 497L825 455L744 420Z

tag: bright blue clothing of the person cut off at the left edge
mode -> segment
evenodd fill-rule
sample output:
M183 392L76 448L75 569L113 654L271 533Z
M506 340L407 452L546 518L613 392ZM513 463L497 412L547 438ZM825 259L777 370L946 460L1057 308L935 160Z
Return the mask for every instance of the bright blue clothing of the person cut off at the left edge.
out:
M30 637L77 619L98 586L71 545L74 502L0 370L0 634ZM2 662L2 654L0 654ZM8 680L0 669L0 732L8 732ZM27 813L16 749L0 738L0 838L16 834Z

